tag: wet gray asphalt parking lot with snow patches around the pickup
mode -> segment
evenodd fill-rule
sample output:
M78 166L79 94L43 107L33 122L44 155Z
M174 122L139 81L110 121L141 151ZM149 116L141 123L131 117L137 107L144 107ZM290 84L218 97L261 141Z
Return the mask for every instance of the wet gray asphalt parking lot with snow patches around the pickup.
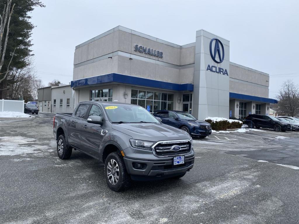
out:
M297 132L194 139L183 178L116 193L97 160L57 157L53 114L34 116L0 119L0 223L298 223Z

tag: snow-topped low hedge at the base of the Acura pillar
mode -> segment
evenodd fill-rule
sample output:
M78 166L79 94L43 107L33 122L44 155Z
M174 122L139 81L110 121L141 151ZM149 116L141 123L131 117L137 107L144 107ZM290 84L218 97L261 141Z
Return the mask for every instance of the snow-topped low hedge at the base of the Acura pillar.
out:
M226 130L241 128L243 122L238 120L226 119L223 117L207 117L206 122L211 124L213 130Z

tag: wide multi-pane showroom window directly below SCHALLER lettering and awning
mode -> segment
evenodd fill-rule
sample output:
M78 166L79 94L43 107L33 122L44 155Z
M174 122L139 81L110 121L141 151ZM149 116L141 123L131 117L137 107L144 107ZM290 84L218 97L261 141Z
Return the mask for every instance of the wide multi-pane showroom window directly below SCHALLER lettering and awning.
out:
M136 104L149 112L158 110L173 110L173 94L145 90L131 90L131 104Z

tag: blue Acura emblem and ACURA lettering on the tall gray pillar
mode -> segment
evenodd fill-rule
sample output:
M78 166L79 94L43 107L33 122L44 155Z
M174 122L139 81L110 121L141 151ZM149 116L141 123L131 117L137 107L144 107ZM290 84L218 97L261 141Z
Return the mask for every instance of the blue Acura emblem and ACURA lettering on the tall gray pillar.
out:
M213 41L215 41L214 52L212 50ZM220 48L220 46L221 46L221 48ZM216 58L217 53L218 53L218 56L219 56L219 61ZM220 40L218 40L216 38L211 39L211 42L210 42L210 55L211 55L214 62L216 62L216 63L223 62L223 60L224 60L224 47L223 47L223 44ZM207 71L216 72L216 73L228 76L228 72L227 72L226 69L216 67L214 65L212 65L212 66L208 65Z

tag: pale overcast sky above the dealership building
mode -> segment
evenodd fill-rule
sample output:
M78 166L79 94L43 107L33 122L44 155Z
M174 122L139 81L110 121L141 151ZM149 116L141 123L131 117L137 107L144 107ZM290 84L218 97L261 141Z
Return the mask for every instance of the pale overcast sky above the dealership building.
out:
M299 83L296 0L41 1L46 7L31 13L32 49L45 84L71 82L75 46L118 25L179 45L195 42L199 29L228 39L231 62L270 74L270 98L284 80Z

